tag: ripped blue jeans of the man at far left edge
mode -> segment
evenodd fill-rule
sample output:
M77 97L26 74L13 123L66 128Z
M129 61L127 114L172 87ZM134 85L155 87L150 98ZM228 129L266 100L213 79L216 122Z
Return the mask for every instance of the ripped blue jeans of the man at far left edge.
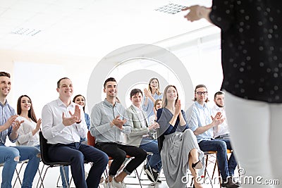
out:
M17 156L20 156L20 161L29 160L23 175L23 187L32 187L33 179L37 173L40 158L37 157L40 151L34 146L0 146L0 163L5 163L2 170L1 188L11 188L13 173L16 170L18 161L15 161Z

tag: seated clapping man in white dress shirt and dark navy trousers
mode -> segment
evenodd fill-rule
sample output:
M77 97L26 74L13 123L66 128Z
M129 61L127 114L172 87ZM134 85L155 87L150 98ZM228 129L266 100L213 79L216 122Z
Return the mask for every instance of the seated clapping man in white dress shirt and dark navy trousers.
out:
M103 151L80 143L87 135L87 126L82 106L71 101L73 83L68 77L57 82L59 99L51 101L42 109L42 133L49 146L52 161L71 163L71 174L75 187L98 187L100 177L108 163ZM92 162L85 180L84 161Z

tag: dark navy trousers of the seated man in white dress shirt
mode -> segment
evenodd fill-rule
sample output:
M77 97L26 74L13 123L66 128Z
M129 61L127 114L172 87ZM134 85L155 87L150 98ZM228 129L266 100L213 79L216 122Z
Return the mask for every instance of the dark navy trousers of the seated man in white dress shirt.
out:
M49 158L52 161L67 161L71 163L71 174L75 187L98 187L102 173L108 164L108 156L93 146L80 144L51 144ZM92 162L87 180L85 181L84 161Z

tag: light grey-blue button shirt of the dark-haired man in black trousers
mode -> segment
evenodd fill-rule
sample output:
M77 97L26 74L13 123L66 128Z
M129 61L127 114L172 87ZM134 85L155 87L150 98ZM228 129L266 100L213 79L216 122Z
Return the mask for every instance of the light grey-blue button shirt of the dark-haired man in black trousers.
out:
M117 115L120 115L119 119L127 120L123 124L123 130L118 127L111 126L110 123ZM125 108L116 103L110 104L106 99L99 104L93 106L91 111L91 127L90 132L95 137L95 142L116 142L118 144L124 144L124 135L122 132L128 134L131 132L131 126L128 122L128 115Z

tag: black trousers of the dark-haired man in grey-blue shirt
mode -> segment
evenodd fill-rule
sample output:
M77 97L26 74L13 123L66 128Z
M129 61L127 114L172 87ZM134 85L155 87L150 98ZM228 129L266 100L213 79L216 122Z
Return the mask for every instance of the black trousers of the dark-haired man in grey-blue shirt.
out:
M146 151L135 146L125 146L117 143L96 144L97 149L104 151L108 156L114 158L111 163L109 175L114 176L125 161L126 155L134 157L123 169L128 175L133 172L147 157Z

